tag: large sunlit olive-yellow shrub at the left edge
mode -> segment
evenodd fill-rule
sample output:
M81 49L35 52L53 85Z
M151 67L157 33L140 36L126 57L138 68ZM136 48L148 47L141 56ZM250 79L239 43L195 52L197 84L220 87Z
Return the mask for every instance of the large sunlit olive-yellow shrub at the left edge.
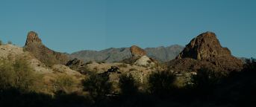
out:
M35 74L25 58L1 59L0 89L17 88L21 91L37 91L42 85L41 76Z

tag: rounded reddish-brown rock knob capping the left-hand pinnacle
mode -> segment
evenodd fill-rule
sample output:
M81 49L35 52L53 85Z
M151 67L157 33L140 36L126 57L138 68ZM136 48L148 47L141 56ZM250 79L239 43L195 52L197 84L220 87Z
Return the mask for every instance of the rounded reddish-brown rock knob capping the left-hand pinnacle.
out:
M30 45L32 43L41 43L41 39L38 37L37 33L34 31L28 32L27 40L25 45Z

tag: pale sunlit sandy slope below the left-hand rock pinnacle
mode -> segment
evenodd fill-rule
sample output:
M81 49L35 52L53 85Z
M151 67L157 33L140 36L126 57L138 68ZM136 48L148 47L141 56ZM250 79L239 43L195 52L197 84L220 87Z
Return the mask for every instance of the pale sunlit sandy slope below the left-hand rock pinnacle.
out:
M51 68L49 68L48 65L40 62L40 60L32 53L24 51L23 48L16 45L0 45L0 59L8 59L9 61L14 62L15 59L19 58L25 59L28 62L29 67L31 67L36 74L42 77L40 84L43 85L43 88L40 92L52 94L56 89L56 80L63 76L74 78L74 91L81 90L80 82L85 76L80 74L78 71L73 71L65 65L52 65ZM79 87L79 89L76 87Z

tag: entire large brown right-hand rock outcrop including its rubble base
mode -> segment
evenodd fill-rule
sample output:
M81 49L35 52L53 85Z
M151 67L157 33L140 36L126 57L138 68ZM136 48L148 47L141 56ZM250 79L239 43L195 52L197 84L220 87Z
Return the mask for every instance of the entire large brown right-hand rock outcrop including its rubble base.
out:
M186 45L186 48L169 62L175 71L197 71L210 68L214 71L239 71L243 62L231 55L228 48L222 48L215 33L202 33Z

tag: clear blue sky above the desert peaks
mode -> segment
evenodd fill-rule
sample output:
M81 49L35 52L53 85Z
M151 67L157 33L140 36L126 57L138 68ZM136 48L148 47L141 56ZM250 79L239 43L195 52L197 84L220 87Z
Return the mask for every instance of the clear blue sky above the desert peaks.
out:
M0 39L28 31L60 52L187 45L216 33L234 56L256 57L255 0L0 0Z

